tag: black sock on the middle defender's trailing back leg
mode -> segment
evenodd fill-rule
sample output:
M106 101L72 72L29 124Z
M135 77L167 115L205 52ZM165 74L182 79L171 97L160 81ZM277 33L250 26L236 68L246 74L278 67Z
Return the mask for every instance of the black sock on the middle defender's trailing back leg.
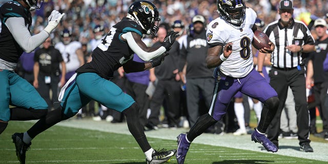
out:
M34 138L36 135L44 132L48 128L54 126L61 120L67 119L65 115L61 112L61 107L59 106L57 109L49 111L46 117L38 120L28 131L27 133L31 138Z

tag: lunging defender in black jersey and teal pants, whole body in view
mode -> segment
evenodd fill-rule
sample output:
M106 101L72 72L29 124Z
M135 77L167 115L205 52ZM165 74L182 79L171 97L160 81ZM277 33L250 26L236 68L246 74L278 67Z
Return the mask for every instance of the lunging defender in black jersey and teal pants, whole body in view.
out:
M144 71L161 64L179 35L171 31L162 46L148 48L141 40L143 34L154 36L158 31L159 13L148 1L131 4L127 17L114 25L92 53L92 61L76 70L76 74L61 89L60 107L49 111L28 131L34 138L61 120L73 117L91 99L126 116L128 128L146 155L147 163L164 163L176 150L155 151L149 144L138 118L138 105L134 99L110 81L113 72L123 66L125 72ZM146 63L133 61L136 53ZM75 79L75 81L73 81ZM72 84L67 87L70 83ZM67 87L67 88L66 88ZM21 133L22 134L22 133Z

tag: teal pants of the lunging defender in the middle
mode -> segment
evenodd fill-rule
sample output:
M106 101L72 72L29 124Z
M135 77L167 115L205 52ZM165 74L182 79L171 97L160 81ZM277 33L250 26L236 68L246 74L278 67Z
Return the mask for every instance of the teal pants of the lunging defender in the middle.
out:
M112 81L100 77L96 73L78 73L75 81L65 91L61 100L64 114L73 117L79 109L93 99L107 108L122 112L129 108L134 99L124 93Z

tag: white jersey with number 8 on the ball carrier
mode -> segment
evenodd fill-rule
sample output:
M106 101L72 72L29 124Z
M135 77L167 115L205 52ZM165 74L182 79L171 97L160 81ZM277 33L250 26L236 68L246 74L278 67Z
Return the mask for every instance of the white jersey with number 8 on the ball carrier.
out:
M220 71L223 74L240 78L252 71L252 40L254 36L252 27L256 16L253 9L246 8L245 19L240 27L230 24L221 17L212 20L209 24L206 36L210 46L224 46L227 43L233 43L231 55L220 65Z

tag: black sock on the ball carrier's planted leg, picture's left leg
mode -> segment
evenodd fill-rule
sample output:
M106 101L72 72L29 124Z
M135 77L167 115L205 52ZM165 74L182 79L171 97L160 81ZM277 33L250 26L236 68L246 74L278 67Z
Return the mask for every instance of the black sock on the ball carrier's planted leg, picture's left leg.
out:
M217 122L210 114L204 114L200 116L195 125L190 129L187 134L187 138L192 142L197 136L204 133L209 127L214 125Z

